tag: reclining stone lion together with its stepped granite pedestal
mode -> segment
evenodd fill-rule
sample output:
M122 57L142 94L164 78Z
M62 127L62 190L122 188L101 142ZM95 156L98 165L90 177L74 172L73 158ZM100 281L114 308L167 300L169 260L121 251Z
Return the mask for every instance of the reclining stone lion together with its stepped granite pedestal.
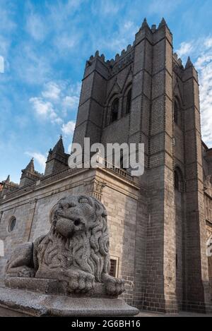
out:
M0 314L36 316L136 315L117 296L124 279L109 275L107 211L85 195L59 200L46 236L16 249L0 288ZM53 295L54 294L54 295Z

